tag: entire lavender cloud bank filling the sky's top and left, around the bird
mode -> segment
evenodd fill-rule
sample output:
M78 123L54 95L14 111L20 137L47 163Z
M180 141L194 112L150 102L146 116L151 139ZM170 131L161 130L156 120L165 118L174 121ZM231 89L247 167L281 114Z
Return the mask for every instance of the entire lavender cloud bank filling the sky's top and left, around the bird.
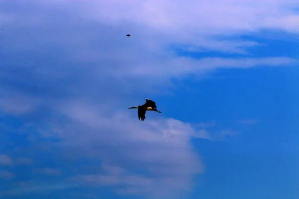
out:
M242 36L263 37L265 30L298 34L296 3L0 1L0 114L30 127L15 130L18 135L26 131L30 146L23 150L28 154L34 156L38 149L52 162L68 165L54 169L38 160L15 160L36 163L34 175L58 176L65 182L32 182L26 190L55 191L78 182L148 198L173 198L192 190L205 167L190 140L224 140L238 132L213 134L206 129L213 122L198 121L196 127L154 113L141 123L136 112L122 109L148 96L166 95L175 89L173 79L218 69L294 66L296 58L252 55L250 49L266 44ZM0 164L11 166L14 154L7 153ZM2 180L15 177L9 171L0 174ZM24 194L19 186L12 187L2 194Z

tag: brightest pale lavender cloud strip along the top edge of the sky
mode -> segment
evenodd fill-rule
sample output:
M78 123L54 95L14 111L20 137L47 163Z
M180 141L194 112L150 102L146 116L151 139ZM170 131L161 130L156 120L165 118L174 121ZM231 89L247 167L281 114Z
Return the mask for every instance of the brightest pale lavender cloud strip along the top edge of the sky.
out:
M84 1L85 2L85 1ZM228 31L257 31L263 27L284 29L281 24L268 24L270 18L283 20L295 15L296 0L151 0L89 1L80 13L101 21L133 21L148 24L169 35L189 39L195 34L223 34ZM192 31L190 31L192 29ZM297 31L297 29L291 29ZM184 32L184 34L182 34ZM171 38L172 39L172 38Z

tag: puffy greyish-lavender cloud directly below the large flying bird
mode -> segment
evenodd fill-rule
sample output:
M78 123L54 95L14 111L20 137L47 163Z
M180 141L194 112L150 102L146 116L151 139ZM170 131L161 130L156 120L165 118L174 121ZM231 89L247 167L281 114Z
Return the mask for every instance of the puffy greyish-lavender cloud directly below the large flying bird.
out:
M154 112L147 113L146 122L139 121L137 112L130 110L107 116L96 106L76 103L62 111L73 121L54 126L56 136L63 140L55 150L67 147L60 151L68 154L66 158L105 162L102 172L84 169L90 172L77 177L82 186L91 183L115 187L123 194L172 196L191 189L194 175L204 172L200 157L190 145L194 131L190 124L154 119L160 117Z

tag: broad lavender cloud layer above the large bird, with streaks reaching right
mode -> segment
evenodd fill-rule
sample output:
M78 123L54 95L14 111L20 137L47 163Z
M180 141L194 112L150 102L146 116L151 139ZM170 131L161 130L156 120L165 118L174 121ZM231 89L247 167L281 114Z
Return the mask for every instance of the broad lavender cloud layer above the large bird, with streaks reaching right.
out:
M17 61L14 58L5 59L12 66L1 77L6 80L6 84L14 82L14 87L22 85L29 90L34 85L35 91L44 93L52 92L51 86L59 84L56 96L65 95L65 90L69 94L82 95L85 92L90 95L90 92L99 93L95 88L105 88L103 90L107 91L117 89L115 87L121 87L117 90L118 93L127 94L140 88L147 92L160 91L171 86L171 78L184 78L189 74L201 76L221 68L286 66L298 63L298 60L288 57L195 59L178 57L169 50L169 45L177 45L186 46L191 51L210 49L246 53L247 47L260 44L232 38L247 33L247 29L255 33L263 30L269 26L263 25L263 20L270 16L283 20L282 17L293 12L295 1L155 2L90 0L70 4L65 0L51 3L32 0L27 2L32 5L28 15L6 9L17 20L7 26L6 34L1 35L7 46L6 50L10 55L17 56L20 52L28 52L28 55L17 56ZM5 6L4 2L1 3ZM217 7L212 6L215 3ZM63 20L59 17L61 12L54 9L57 4L65 8L63 13L67 17ZM267 5L267 9L260 5ZM28 18L25 19L26 17ZM39 23L26 24L41 18ZM76 21L77 18L81 18L81 22ZM33 31L35 28L39 31ZM278 28L284 29L283 26ZM18 30L26 30L27 33L19 36ZM125 36L128 31L132 31L130 38ZM226 39L222 38L223 35ZM59 54L51 53L49 57L48 50L52 47ZM56 60L57 64L53 66L43 63L33 68L36 61L30 57L32 55L42 60ZM26 84L22 82L22 78L28 78ZM64 81L66 79L72 84L67 84ZM152 86L155 88L148 89ZM19 94L22 97L18 97L18 93L10 94L11 88L3 92L7 99L0 101L1 108L12 113L27 113L42 105L40 101L45 100L30 95L24 97L24 89ZM23 100L25 101L22 102Z

